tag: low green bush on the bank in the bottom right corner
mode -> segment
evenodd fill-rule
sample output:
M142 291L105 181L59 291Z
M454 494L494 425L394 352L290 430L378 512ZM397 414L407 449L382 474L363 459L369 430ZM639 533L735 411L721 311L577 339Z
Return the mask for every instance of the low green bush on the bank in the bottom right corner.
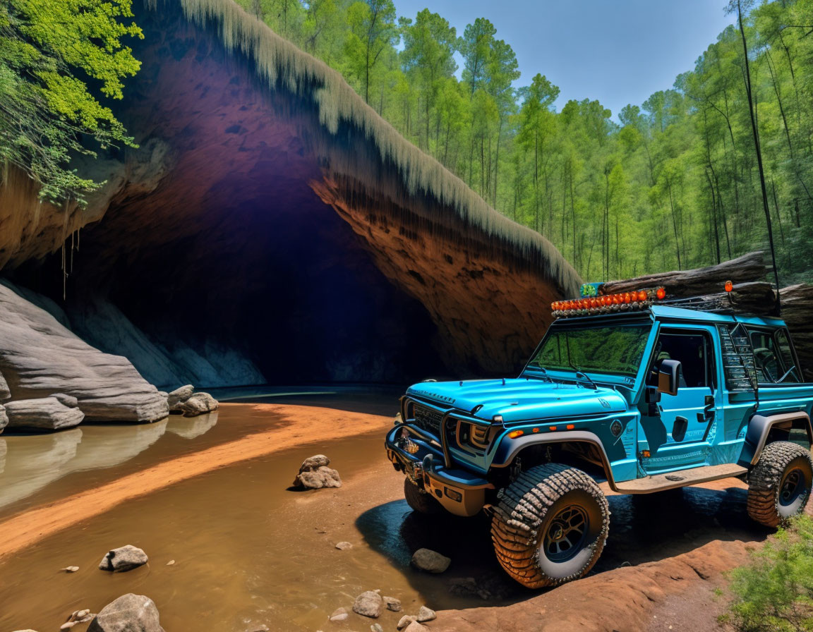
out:
M733 570L725 617L741 632L813 630L813 519L798 517Z

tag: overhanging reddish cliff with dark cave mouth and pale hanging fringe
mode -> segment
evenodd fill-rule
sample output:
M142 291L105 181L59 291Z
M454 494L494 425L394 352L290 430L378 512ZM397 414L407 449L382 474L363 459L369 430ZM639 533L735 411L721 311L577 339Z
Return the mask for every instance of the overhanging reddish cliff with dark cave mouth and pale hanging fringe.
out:
M543 237L232 2L135 10L141 148L85 210L10 177L7 274L162 387L517 370L579 282Z

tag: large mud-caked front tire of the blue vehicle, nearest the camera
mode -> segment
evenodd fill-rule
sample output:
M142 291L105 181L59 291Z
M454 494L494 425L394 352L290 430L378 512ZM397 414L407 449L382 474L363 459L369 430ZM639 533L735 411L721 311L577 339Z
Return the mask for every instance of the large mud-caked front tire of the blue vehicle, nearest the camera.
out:
M528 588L583 577L601 556L610 509L598 485L581 470L538 465L502 491L493 509L497 559Z

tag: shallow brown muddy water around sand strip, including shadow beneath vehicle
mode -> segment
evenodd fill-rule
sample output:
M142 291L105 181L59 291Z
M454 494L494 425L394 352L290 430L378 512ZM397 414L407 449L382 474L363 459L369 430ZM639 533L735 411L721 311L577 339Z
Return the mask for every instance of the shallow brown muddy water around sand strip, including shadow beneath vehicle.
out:
M52 435L0 437L3 538L2 522L26 509L156 464L253 433L272 431L280 442L290 439L297 432L297 411L311 417L315 413L308 411L322 411L325 428L334 415L324 410L334 409L350 422L356 413L367 420L360 435L348 422L350 430L338 439L320 440L318 431L295 436L291 448L125 500L3 556L0 630L58 630L73 610L98 612L127 592L150 596L168 632L245 632L262 626L275 632L368 630L371 620L351 615L344 623L331 623L328 616L340 606L350 609L355 595L375 589L402 600L406 613L416 613L422 604L469 608L533 595L501 574L485 517L411 513L402 500L402 477L382 448L396 408L392 398L325 395L285 402L285 414L253 402L149 426L81 426ZM370 431L369 420L376 418L378 426ZM302 459L316 453L331 458L343 487L291 491ZM685 552L711 539L763 539L766 533L747 521L745 490L738 483L658 500L614 496L610 501L611 537L599 573ZM340 541L353 548L337 550ZM143 548L149 564L122 574L97 568L109 549L125 544ZM430 576L411 569L411 552L421 546L451 556L450 571ZM80 569L60 572L67 565ZM385 613L380 623L394 630L401 615Z

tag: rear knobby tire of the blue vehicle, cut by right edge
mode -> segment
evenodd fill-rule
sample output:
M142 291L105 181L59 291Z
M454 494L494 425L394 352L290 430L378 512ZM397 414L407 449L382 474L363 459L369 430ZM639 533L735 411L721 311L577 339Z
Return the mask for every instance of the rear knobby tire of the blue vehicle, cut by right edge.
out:
M748 515L779 526L805 509L813 485L810 451L789 441L767 444L748 475Z

